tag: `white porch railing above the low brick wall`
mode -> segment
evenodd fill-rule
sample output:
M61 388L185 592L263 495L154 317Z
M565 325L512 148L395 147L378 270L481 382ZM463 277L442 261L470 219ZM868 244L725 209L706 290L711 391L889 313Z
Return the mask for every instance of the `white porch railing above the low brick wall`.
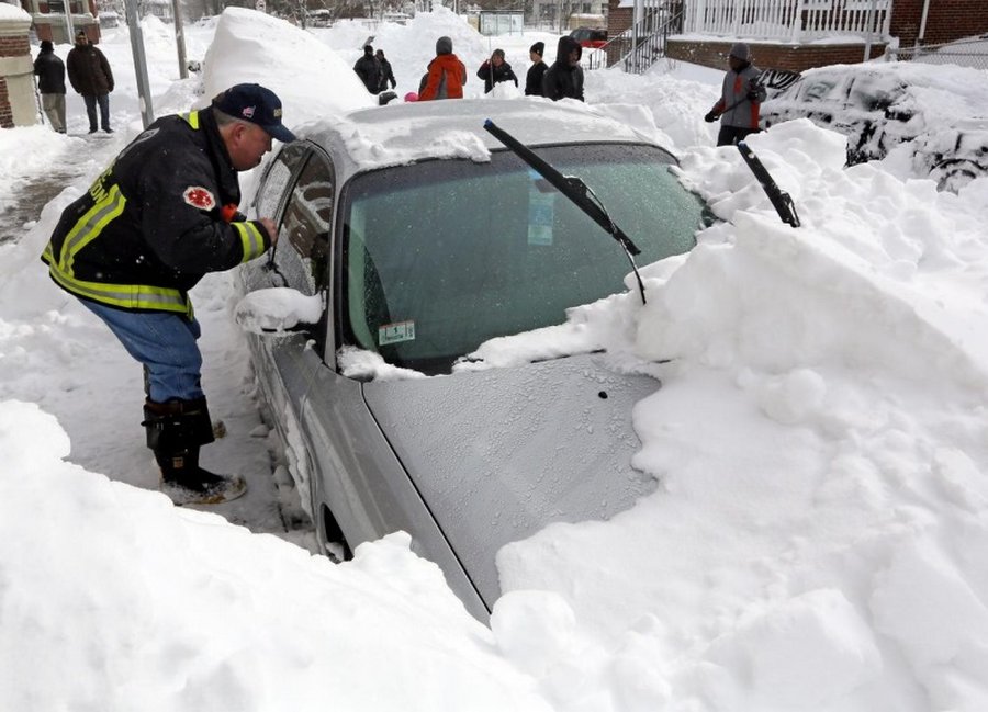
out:
M684 32L805 42L888 35L892 0L694 0Z

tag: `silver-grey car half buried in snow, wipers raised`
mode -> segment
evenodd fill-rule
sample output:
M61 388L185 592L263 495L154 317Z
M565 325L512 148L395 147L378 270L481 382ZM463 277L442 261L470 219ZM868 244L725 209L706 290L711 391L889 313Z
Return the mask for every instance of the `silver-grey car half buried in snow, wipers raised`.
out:
M501 546L654 488L630 464L631 408L660 386L593 350L510 368L471 355L622 292L630 271L611 235L483 129L489 116L583 179L641 264L688 251L708 222L671 152L587 108L406 103L308 124L269 159L252 210L274 219L277 249L240 271L245 302L288 287L316 304L294 330L276 315L276 335L248 340L321 546L348 556L403 530L481 620ZM382 368L348 366L355 354Z

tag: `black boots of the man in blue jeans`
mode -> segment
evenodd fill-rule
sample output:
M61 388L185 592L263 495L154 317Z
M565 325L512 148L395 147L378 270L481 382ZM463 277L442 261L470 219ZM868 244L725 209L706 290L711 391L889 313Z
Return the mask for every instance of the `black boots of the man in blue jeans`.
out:
M216 505L236 499L247 485L242 477L217 475L199 466L199 448L213 441L205 398L144 405L147 447L161 468L161 489L177 505Z

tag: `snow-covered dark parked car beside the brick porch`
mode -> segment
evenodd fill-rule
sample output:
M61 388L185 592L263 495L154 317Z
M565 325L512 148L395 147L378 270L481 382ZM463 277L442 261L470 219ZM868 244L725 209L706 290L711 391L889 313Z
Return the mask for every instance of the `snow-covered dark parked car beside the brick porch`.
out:
M985 72L913 63L809 69L762 105L763 128L790 118L847 135L847 165L885 158L916 142L913 162L941 188L988 174Z

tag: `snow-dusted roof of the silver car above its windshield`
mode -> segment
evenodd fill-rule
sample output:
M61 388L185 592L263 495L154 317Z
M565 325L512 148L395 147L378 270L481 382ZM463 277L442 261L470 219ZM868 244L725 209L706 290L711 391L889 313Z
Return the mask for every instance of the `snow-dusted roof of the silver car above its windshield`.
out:
M333 158L337 182L350 176L437 158L490 160L505 146L484 129L491 118L526 146L656 144L582 102L459 99L401 102L326 117L295 129ZM660 147L661 148L661 147Z

